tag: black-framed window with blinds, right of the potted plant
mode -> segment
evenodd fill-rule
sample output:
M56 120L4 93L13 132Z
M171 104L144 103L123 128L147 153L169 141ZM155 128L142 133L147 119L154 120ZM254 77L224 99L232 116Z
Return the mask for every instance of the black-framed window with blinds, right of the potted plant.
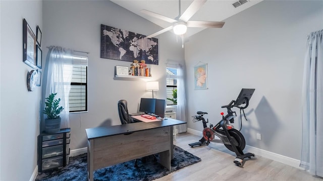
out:
M87 61L87 56L74 54L72 65L64 65L64 76L71 77L70 113L87 111Z

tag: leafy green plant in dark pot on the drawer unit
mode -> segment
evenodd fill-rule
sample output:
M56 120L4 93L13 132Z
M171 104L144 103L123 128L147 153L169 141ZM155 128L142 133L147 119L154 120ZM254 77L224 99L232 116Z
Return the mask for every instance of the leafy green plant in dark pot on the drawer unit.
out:
M47 119L45 119L45 132L46 133L57 133L61 130L61 120L60 113L64 110L64 108L60 105L61 99L54 100L57 93L52 93L46 98L45 109L43 113L47 115Z

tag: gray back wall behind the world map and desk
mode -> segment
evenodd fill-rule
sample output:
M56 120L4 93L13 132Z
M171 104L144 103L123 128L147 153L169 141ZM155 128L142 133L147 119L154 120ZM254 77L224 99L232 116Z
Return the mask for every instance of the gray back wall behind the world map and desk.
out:
M117 103L128 101L130 113L137 112L140 98L151 98L145 81L158 80L159 91L154 97L166 99L166 62L183 62L184 49L172 33L158 38L159 65L152 68L152 79L114 80L115 65L130 66L131 62L100 58L100 25L109 25L149 35L160 27L119 7L110 1L44 1L43 47L57 45L89 52L88 113L70 114L71 150L86 147L86 128L120 123ZM47 48L43 48L46 55Z

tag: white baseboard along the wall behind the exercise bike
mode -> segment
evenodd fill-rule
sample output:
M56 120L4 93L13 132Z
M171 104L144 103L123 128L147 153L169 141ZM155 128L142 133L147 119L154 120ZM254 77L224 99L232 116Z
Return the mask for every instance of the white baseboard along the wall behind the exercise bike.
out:
M197 135L197 136L203 136L201 131L193 130L193 129L190 129L190 128L187 128L187 132L192 133L192 134ZM290 158L290 157L287 157L287 156L284 156L284 155L280 155L280 154L277 154L277 153L273 153L273 152L266 151L266 150L263 150L263 149L259 149L259 148L256 148L256 147L252 147L252 146L249 146L249 145L246 145L244 151L254 153L255 155L263 156L265 158L272 159L272 160L275 160L275 161L278 161L278 162L281 162L281 163L284 163L284 164L287 164L287 165L290 165L290 166L293 166L293 167L296 167L296 168L304 170L304 168L301 168L299 166L300 160L298 160L298 159Z

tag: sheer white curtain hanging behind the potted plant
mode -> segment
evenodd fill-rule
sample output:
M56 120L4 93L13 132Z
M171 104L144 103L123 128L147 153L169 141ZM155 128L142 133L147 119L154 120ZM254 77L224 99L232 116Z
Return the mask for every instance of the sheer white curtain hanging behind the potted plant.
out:
M57 46L48 47L47 64L44 72L44 78L47 77L43 83L45 91L43 97L44 105L45 98L51 93L57 93L55 99L61 99L60 106L63 106L64 110L61 112L62 118L61 128L69 128L69 92L71 89L72 79L72 63L73 63L73 51ZM46 74L46 76L45 76ZM44 108L44 106L42 106ZM45 115L44 115L45 116ZM45 117L46 118L46 117Z

